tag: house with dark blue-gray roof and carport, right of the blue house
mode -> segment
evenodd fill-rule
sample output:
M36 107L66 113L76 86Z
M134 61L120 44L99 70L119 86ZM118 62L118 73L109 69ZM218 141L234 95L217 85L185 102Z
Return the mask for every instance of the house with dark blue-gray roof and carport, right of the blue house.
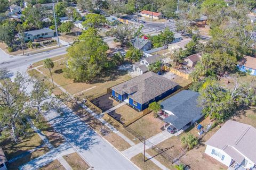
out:
M177 132L186 130L191 124L203 117L202 107L198 106L199 93L191 90L182 90L161 102L164 114L164 128L166 123L173 125ZM166 126L166 127L165 127Z

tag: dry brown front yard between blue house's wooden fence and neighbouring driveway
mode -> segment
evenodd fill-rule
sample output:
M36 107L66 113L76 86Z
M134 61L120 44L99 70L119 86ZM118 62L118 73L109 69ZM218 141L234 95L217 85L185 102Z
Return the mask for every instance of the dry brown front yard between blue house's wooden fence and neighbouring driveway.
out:
M145 136L146 139L148 139L162 132L161 128L163 125L163 121L159 120L159 118L154 118L153 113L149 113L140 118L138 121L129 125L129 128L137 132L142 137Z

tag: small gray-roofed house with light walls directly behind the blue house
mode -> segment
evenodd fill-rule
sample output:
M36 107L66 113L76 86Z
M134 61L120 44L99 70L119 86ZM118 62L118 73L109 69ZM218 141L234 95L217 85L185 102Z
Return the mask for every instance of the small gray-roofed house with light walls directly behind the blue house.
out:
M148 72L148 66L158 60L161 60L161 57L158 54L142 58L140 62L134 63L132 65L132 69L136 75L141 75Z

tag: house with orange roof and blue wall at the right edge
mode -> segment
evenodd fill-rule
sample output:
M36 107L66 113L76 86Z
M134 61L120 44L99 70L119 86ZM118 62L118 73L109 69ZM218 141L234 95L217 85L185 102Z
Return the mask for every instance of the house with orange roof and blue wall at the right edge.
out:
M256 58L244 56L239 64L237 64L239 71L250 72L251 75L256 75Z

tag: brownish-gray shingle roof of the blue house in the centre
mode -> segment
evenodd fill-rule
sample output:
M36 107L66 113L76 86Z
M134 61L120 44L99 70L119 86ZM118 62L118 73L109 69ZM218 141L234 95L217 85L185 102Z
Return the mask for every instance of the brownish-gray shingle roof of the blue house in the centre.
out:
M162 75L147 72L131 80L118 84L111 89L121 95L123 95L124 92L127 94L134 93L129 97L140 104L144 104L177 85L178 83L175 83Z

